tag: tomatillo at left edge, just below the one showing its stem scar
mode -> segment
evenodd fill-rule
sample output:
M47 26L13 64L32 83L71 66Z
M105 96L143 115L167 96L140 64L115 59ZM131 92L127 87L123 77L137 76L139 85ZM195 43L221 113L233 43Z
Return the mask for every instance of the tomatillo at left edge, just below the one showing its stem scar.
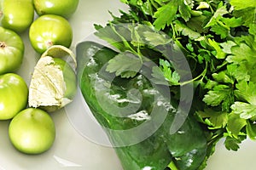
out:
M26 108L28 88L22 77L15 73L0 76L0 120L13 118Z

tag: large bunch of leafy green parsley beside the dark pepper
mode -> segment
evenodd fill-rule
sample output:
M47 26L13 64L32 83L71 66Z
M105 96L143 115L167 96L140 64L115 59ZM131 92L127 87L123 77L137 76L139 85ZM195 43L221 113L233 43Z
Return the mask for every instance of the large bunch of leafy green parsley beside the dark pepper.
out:
M228 150L238 150L247 137L256 139L256 1L121 2L129 6L128 12L112 14L108 27L95 26L96 36L120 51L109 61L107 71L134 77L147 62L143 55L148 54L157 64L152 68L152 80L165 85L167 82L176 89L187 82L181 80L160 51L152 48L175 42L189 61L189 82L195 85L192 110L205 129L208 156L219 139L225 139ZM131 27L119 26L125 23L131 23Z

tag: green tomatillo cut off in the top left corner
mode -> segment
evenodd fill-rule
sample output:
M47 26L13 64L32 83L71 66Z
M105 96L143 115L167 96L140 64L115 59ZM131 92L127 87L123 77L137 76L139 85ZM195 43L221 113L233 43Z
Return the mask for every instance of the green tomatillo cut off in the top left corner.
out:
M34 20L32 0L0 0L0 18L3 27L19 33L26 31Z

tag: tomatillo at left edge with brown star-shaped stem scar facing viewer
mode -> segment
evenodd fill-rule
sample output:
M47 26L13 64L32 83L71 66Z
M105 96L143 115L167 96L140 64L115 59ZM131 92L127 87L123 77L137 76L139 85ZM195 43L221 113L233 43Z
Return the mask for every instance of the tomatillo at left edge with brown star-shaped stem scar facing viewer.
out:
M0 26L0 75L16 71L23 60L24 42L9 29Z

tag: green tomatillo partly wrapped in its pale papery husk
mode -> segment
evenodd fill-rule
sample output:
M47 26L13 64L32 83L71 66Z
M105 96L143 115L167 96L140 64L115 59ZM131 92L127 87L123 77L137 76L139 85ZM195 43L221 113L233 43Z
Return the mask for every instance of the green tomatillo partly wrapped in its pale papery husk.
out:
M60 52L60 48L56 49ZM64 52L58 54L65 56ZM76 79L74 68L61 56L42 55L32 74L28 105L48 112L61 109L73 101L77 92Z

